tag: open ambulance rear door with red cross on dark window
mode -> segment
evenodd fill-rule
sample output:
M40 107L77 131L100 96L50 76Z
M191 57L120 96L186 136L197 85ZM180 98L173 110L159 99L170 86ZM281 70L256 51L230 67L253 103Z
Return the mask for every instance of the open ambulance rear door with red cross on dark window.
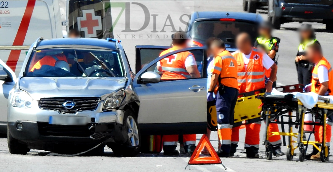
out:
M67 33L76 29L82 38L113 38L110 0L68 0L66 8Z

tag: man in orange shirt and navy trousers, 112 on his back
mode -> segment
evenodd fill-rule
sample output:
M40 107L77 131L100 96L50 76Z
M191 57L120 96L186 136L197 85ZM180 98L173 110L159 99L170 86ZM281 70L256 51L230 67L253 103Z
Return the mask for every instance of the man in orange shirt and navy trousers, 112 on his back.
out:
M216 94L217 133L221 146L219 157L229 157L231 149L231 128L234 109L238 96L237 61L225 50L225 44L215 39L211 44L211 52L215 57L212 76L207 94L207 101L213 99L213 91L218 84Z

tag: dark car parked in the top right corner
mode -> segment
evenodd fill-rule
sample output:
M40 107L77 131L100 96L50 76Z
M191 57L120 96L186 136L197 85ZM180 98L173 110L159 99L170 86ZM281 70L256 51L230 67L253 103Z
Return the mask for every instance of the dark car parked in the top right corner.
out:
M319 22L333 30L332 0L269 0L268 20L275 29L288 22Z

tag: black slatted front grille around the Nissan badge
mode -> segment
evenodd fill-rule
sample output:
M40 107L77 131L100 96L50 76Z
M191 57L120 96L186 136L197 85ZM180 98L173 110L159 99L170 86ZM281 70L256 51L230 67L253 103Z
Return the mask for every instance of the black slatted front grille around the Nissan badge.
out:
M100 98L99 97L54 97L41 98L38 103L41 109L58 110L65 113L75 113L82 110L95 110ZM73 101L75 106L72 109L66 109L63 103Z

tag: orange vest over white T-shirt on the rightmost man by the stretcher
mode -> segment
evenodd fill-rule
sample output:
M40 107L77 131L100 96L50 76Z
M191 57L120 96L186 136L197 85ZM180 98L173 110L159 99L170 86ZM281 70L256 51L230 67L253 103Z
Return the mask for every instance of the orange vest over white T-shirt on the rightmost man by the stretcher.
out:
M323 57L318 64L313 68L312 71L312 81L311 81L311 92L315 92L318 94L321 84L319 83L318 78L318 67L324 65L328 69L328 92L329 95L333 95L333 72L331 64L327 61L325 57Z

